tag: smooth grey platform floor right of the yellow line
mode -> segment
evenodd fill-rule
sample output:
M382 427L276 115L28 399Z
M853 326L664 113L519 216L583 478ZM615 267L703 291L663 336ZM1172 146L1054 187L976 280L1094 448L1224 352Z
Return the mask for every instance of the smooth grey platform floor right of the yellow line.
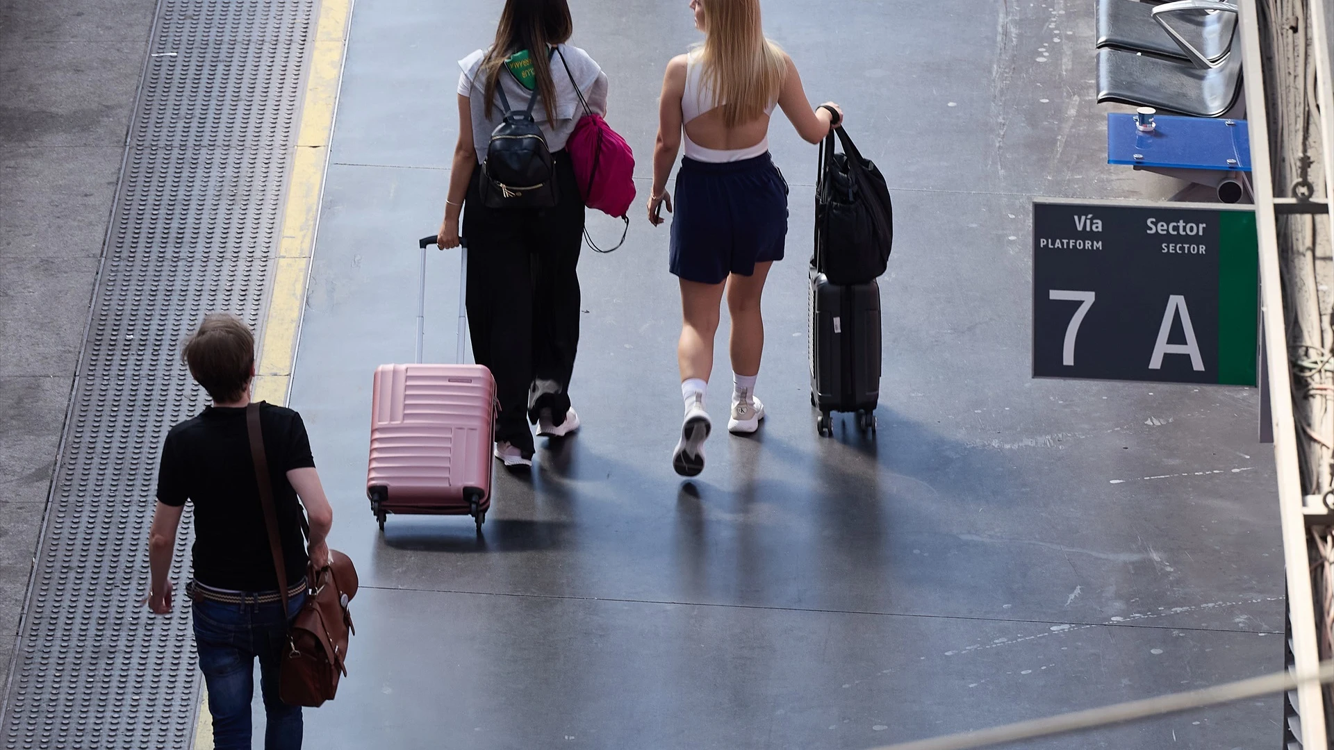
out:
M363 495L371 372L412 356L455 60L499 7L355 8L291 403L363 593L309 746L866 747L1279 667L1255 391L1030 378L1031 198L1177 188L1105 163L1083 0L764 3L812 100L844 105L894 190L876 438L815 434L815 151L776 121L792 218L760 432L718 434L698 480L672 474L676 286L667 230L636 204L626 247L580 266L584 428L539 443L530 476L499 474L482 539L466 518L382 535ZM698 39L686 1L571 7L646 195L662 69ZM456 274L432 251L428 360L454 351ZM727 380L719 358L715 416ZM1026 747L1265 747L1281 715L1275 697Z

